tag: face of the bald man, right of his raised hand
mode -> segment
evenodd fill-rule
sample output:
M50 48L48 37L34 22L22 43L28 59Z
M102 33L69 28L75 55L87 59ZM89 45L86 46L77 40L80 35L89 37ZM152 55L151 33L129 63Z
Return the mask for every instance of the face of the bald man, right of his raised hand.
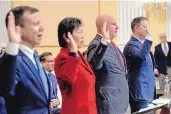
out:
M117 36L118 29L119 27L116 20L110 17L107 22L107 30L109 31L109 37L111 40Z

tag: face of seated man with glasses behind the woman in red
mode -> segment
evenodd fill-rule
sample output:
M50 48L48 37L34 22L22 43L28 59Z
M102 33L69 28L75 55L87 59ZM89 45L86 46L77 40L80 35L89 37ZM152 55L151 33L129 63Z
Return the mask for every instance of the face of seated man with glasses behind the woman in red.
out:
M42 66L43 68L48 71L48 72L51 72L54 70L54 58L52 55L49 55L49 56L46 56L45 57L45 61L42 62Z

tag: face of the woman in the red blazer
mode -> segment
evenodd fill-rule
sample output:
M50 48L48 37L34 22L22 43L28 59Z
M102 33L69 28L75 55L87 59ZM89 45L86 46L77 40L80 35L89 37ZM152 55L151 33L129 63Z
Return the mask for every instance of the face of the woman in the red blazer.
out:
M84 46L83 26L74 29L72 32L72 36L75 43L77 44L77 48L81 48L82 46Z

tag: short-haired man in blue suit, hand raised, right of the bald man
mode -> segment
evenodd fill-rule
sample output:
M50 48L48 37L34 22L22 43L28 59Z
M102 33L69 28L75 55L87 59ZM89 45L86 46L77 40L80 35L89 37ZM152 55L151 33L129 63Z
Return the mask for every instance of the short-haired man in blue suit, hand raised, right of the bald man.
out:
M155 76L150 57L152 41L148 20L145 17L136 17L131 23L133 36L124 48L127 61L128 84L130 89L131 112L146 108L154 98Z

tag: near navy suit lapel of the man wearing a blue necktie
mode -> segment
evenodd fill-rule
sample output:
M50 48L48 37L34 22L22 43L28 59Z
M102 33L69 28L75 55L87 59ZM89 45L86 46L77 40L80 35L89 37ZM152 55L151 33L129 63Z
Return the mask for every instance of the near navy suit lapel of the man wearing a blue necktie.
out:
M30 71L32 71L32 73L36 77L37 81L39 82L39 84L43 90L44 95L46 96L39 73L38 73L36 67L34 66L33 62L22 51L19 51L19 53L20 53L20 55L22 55L22 59L23 59L24 63L27 65L27 67L30 69ZM47 96L46 96L46 98L47 98Z

